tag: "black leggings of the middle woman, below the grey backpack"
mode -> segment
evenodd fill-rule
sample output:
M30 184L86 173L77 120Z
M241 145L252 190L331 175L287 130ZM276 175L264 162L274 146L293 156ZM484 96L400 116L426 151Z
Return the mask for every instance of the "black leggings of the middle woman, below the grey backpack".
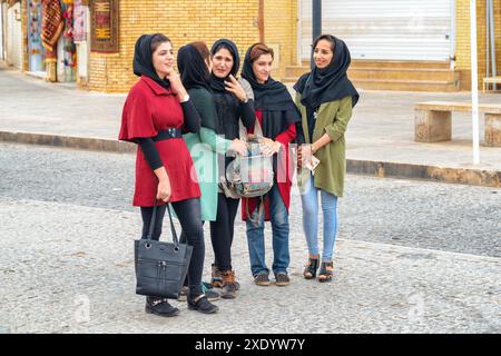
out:
M210 221L210 240L214 249L214 265L219 270L232 269L232 244L235 227L235 217L239 199L227 198L224 194L217 195L216 221Z

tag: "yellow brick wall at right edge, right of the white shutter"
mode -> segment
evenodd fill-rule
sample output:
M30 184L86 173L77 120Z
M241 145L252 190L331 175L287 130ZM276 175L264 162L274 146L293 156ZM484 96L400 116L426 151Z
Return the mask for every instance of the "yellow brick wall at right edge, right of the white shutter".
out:
M494 27L497 47L497 70L501 70L501 0L494 0ZM477 37L479 60L479 88L485 77L485 1L477 1ZM456 63L461 71L462 89L471 88L471 51L470 51L470 1L456 1Z

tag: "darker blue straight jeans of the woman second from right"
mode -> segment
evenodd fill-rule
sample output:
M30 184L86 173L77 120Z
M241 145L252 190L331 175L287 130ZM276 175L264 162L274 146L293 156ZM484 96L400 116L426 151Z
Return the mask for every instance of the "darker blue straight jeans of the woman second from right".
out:
M269 214L273 231L273 273L275 276L279 273L287 273L289 264L288 254L288 211L282 200L281 192L275 184L268 192ZM265 261L265 240L264 240L264 218L265 211L259 215L257 208L253 211L252 218L247 218L247 243L248 255L250 258L250 270L253 276L259 274L269 274Z

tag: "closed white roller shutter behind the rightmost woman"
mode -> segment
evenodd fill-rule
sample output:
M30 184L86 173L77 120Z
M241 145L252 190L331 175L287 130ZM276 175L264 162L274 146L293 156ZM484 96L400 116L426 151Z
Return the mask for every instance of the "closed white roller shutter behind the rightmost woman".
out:
M302 57L310 58L312 1L301 0ZM343 39L354 59L450 58L452 0L323 0L322 32Z

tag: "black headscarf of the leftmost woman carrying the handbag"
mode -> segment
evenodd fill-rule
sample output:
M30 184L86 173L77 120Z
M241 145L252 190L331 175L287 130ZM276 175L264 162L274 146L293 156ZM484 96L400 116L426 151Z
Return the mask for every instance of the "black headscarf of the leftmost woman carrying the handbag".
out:
M156 34L158 33L143 34L137 39L134 49L134 63L132 63L134 73L138 77L146 76L155 80L159 86L164 87L165 89L169 89L170 82L168 81L168 79L160 79L153 65L151 39Z

